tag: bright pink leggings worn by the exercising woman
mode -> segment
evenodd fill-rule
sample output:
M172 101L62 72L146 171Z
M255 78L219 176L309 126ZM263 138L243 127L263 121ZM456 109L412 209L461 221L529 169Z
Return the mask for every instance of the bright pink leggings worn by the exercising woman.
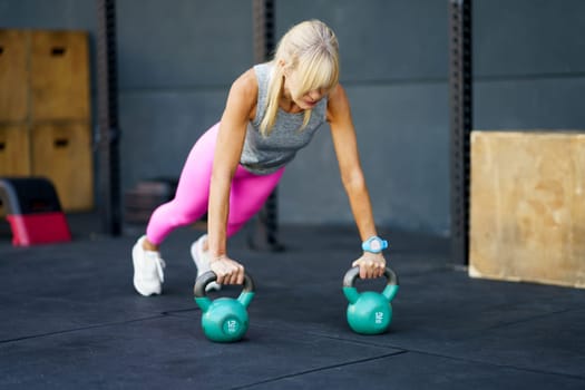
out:
M207 211L213 155L220 124L209 128L193 146L178 181L175 198L160 205L148 222L146 236L155 245L175 228L199 220ZM254 216L279 183L284 168L270 175L255 175L237 166L230 193L227 236Z

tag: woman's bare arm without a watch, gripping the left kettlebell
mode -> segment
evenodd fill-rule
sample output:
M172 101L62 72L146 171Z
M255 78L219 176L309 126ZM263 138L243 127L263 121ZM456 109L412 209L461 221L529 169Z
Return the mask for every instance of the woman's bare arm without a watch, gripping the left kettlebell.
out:
M217 283L244 282L244 267L227 257L227 216L230 214L230 188L234 177L247 128L255 110L257 81L253 70L234 81L222 115L213 172L209 185L207 217L211 267L217 274Z

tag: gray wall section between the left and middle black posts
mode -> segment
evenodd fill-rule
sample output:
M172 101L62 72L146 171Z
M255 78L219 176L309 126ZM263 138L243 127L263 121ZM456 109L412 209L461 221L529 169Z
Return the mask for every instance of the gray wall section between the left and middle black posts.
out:
M252 2L118 1L123 181L178 177L253 61Z

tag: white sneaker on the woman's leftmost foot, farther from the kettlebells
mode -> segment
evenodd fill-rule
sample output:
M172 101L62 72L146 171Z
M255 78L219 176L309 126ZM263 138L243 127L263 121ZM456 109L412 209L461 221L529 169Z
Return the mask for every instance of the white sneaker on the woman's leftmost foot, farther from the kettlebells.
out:
M143 242L146 236L138 238L131 250L134 264L134 287L144 296L159 295L165 281L163 270L166 264L160 254L155 251L145 251Z

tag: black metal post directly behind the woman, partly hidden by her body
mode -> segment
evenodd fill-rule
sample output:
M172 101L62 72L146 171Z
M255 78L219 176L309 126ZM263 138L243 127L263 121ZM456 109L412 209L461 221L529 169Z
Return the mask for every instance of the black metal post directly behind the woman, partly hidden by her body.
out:
M274 0L252 0L254 19L254 61L266 61L274 51ZM279 243L277 188L260 211L250 246L259 251L282 251Z

